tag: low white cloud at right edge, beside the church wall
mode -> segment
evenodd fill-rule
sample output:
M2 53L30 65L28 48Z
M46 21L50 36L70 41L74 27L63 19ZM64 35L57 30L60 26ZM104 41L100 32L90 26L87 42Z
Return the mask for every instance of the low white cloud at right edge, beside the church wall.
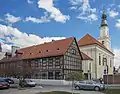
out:
M114 65L115 67L118 68L120 66L120 48L114 49L114 54L115 54Z

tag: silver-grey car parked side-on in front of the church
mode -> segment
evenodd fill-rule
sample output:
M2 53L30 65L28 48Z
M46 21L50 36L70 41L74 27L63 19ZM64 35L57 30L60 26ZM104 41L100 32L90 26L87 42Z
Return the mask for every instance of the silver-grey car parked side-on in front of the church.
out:
M95 91L100 91L105 89L104 84L97 83L93 80L82 80L78 81L74 84L75 89L80 90L80 89L91 89Z

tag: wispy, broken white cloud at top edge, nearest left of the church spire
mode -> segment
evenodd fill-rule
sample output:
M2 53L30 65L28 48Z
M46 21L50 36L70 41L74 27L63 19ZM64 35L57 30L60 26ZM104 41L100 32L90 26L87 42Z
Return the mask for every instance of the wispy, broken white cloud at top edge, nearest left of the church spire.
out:
M70 4L72 5L70 7L74 8L74 10L79 11L79 15L77 18L85 21L96 21L98 20L97 16L97 10L96 8L91 8L91 5L89 3L89 0L69 0Z

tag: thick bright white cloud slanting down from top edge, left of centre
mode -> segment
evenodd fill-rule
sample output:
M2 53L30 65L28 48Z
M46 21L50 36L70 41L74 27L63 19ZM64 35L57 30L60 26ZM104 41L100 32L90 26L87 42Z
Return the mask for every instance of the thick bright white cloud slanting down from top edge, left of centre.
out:
M50 13L50 18L57 22L65 23L70 19L70 16L63 15L58 8L54 7L53 0L38 0L38 7L45 9Z

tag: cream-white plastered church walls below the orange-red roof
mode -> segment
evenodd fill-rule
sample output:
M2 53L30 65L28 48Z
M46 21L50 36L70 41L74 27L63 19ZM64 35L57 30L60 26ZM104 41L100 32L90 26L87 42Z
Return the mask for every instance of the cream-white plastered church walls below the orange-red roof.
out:
M92 70L91 70L91 77L92 78L100 78L104 75L104 69L106 68L106 65L103 66L102 58L103 56L107 57L107 64L109 65L109 74L112 74L113 72L113 65L114 65L114 56L105 50L104 48L101 48L97 45L89 45L89 46L83 46L80 47L80 50L84 52L86 55L88 55L90 58L93 59L91 61L92 63ZM99 54L101 54L101 65L99 65ZM110 59L112 61L112 65L110 67ZM89 61L84 61L86 63L89 63ZM88 64L84 65L85 72L87 72Z

